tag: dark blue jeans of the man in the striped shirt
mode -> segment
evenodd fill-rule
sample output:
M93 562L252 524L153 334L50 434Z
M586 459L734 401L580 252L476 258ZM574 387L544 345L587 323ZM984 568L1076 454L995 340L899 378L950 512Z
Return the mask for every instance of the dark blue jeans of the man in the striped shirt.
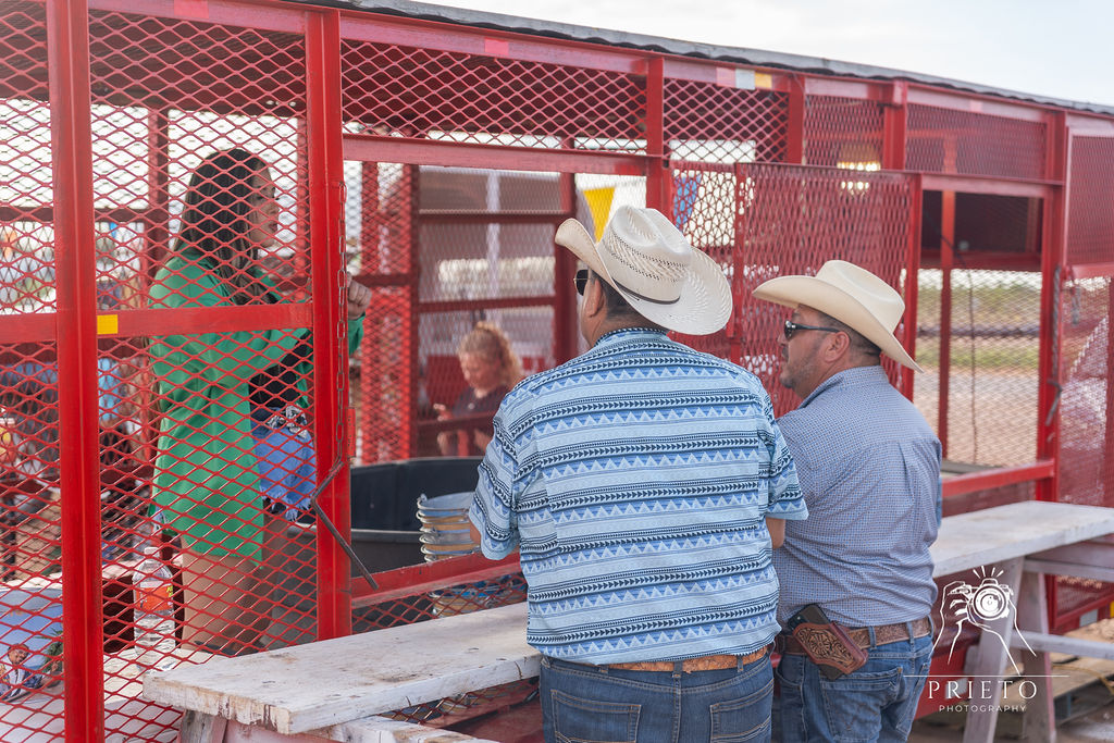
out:
M770 655L741 668L617 671L541 658L546 743L770 741Z

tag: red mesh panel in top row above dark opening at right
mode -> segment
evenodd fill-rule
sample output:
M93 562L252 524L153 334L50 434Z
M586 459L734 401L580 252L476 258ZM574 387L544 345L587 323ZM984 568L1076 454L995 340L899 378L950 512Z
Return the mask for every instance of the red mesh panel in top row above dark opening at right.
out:
M910 105L906 167L930 173L1043 178L1045 125Z

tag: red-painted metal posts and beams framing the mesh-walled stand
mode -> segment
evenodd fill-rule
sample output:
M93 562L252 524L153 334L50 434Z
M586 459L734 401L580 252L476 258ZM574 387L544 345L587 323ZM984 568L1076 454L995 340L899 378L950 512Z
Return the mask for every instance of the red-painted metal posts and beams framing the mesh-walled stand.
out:
M783 126L783 134L770 134L771 138L782 137L769 151L776 153L775 162L795 166L802 170L820 165L809 163L809 137L829 137L828 141L840 145L843 141L858 144L870 139L872 147L881 141L879 165L885 172L905 173L912 177L910 209L907 221L909 234L908 254L903 256L906 271L903 293L907 302L903 341L913 350L917 341L918 272L928 266L939 266L944 274L941 292L940 329L940 388L937 430L947 447L949 427L949 382L951 345L951 271L956 266L952 243L955 235L957 194L984 194L1013 196L1018 198L1040 198L1040 255L1036 258L1025 254L984 253L965 260L964 267L1040 271L1040 335L1038 374L1040 379L1037 399L1037 461L987 472L965 475L945 481L946 496L966 495L990 490L1004 486L1035 482L1036 496L1040 499L1056 499L1059 487L1059 408L1058 385L1063 375L1063 338L1061 327L1052 319L1063 306L1061 286L1069 278L1102 278L1114 274L1114 263L1072 264L1066 255L1067 214L1072 197L1072 173L1069 168L1073 136L1114 136L1114 120L1096 114L1067 111L1053 106L1006 100L988 95L976 95L947 90L918 82L900 80L880 81L841 77L824 77L794 70L752 70L745 66L725 62L678 58L670 55L604 47L580 41L534 37L467 26L432 22L398 16L380 16L353 10L336 10L294 6L271 0L203 0L183 3L176 0L88 0L69 2L65 0L42 0L47 10L47 38L49 65L49 96L51 113L51 157L53 162L53 204L12 207L0 205L0 217L4 221L52 222L57 235L57 312L31 313L19 316L19 322L0 323L0 344L14 346L20 343L50 344L56 339L65 339L58 344L58 372L63 384L59 384L60 413L60 465L65 485L66 508L62 511L61 553L65 566L66 592L63 596L63 629L67 647L67 735L74 740L100 741L104 737L104 674L102 674L102 627L101 617L90 613L89 607L101 605L101 576L98 570L100 545L100 512L98 506L98 408L97 408L97 340L113 338L121 341L146 335L157 335L173 326L183 333L233 332L241 330L266 330L311 326L315 331L313 397L319 401L330 401L321 405L314 417L314 432L317 442L319 481L334 473L335 479L320 496L326 516L342 535L350 531L348 507L348 468L345 452L345 409L348 405L348 374L344 354L343 301L340 276L343 270L338 246L343 239L343 159L364 162L367 188L378 189L378 176L371 177L371 168L378 163L398 163L409 174L410 182L419 179L419 166L442 165L462 168L505 168L509 170L534 170L558 174L559 209L544 214L530 212L487 214L482 216L465 213L439 215L419 214L418 188L407 195L409 214L408 255L413 258L419 250L419 229L423 224L488 223L488 224L551 224L577 214L577 185L575 174L604 174L613 176L645 177L646 204L673 216L674 176L680 167L678 155L670 151L674 140L673 129L677 121L668 121L670 101L667 86L671 81L695 82L710 90L732 95L744 95L733 89L735 71L754 71L762 77L754 96L772 96L779 102L776 108ZM88 7L87 7L88 6ZM90 127L90 48L89 11L113 11L133 16L148 16L167 21L188 20L197 23L221 25L257 29L261 32L293 35L304 38L305 66L300 81L304 85L306 109L293 116L299 119L299 136L304 144L306 157L299 162L297 199L307 205L309 212L300 214L306 225L309 243L299 246L299 260L307 257L302 265L311 270L309 284L311 301L304 304L251 305L222 307L221 310L186 310L169 313L164 310L121 310L117 314L118 331L97 335L96 289L90 277L96 274L94 258L94 223L141 223L145 226L143 239L148 251L143 256L140 273L148 280L154 276L163 256L159 252L170 235L170 188L172 178L172 109L174 100L163 107L149 107L145 116L148 121L147 174L145 192L146 206L131 204L105 205L95 202L94 192L94 133ZM450 141L429 139L420 136L388 136L383 134L354 134L345 129L343 70L341 51L346 41L429 49L467 55L480 66L495 61L519 61L566 68L633 76L639 80L641 94L645 96L644 107L638 110L645 151L602 151L577 149L577 141L564 136L558 146L551 148L530 146L506 146L479 144L477 141ZM606 76L605 76L606 77ZM609 78L608 78L609 79ZM604 86L600 82L600 86ZM19 91L14 91L19 92ZM745 91L744 91L745 92ZM750 94L746 94L750 95ZM870 117L881 110L879 131L859 133L832 128L820 133L809 131L809 104L821 97L838 98L858 105L869 101ZM672 100L672 99L671 99ZM843 105L843 100L840 105ZM209 101L213 102L213 101ZM254 101L258 111L266 110L265 101ZM124 104L126 105L126 104ZM980 159L980 154L968 151L967 172L960 167L961 131L940 134L942 149L938 172L911 172L910 151L913 133L910 129L910 107L931 108L945 116L993 117L1026 131L1043 130L1044 160L1033 168L1032 177L1018 177L1004 170L996 170L994 157ZM778 108L781 107L781 108ZM868 120L874 120L869 118ZM962 120L968 120L964 118ZM980 119L981 120L981 119ZM987 119L988 120L988 119ZM681 123L686 124L686 123ZM1042 129L1043 127L1043 129ZM771 125L771 129L775 128ZM781 131L779 129L779 131ZM667 133L671 133L667 135ZM769 133L768 133L769 134ZM924 136L924 131L917 136ZM701 135L686 135L700 139ZM739 135L740 137L742 135ZM714 138L709 136L707 138ZM753 144L753 143L752 143ZM921 143L924 144L924 143ZM969 144L969 143L968 143ZM975 143L977 145L978 143ZM977 150L977 147L975 147ZM919 146L919 145L918 145ZM1039 149L1039 148L1037 148ZM838 151L838 147L829 151ZM1032 155L1032 153L1028 153ZM971 165L974 163L974 165ZM762 162L759 163L764 164ZM734 172L734 199L742 204L747 195L746 167L749 164L705 163L710 172L722 168ZM823 164L830 167L833 164ZM714 166L714 167L713 167ZM1036 173L1040 170L1040 173ZM944 239L937 254L925 251L921 254L921 211L925 192L940 192L942 196L941 228ZM367 197L365 197L367 198ZM378 199L378 192L375 198ZM378 205L377 205L378 206ZM378 217L377 217L378 218ZM743 235L747 228L747 213L736 209L730 217L734 243L715 245L726 261L744 265ZM363 245L367 250L375 239L380 223L365 219ZM1033 221L1030 228L1036 227ZM792 228L797 228L795 225ZM789 242L792 242L790 239ZM371 261L365 261L369 265ZM553 307L551 358L561 362L570 358L577 348L575 322L575 300L568 292L575 262L565 251L555 252L554 290L551 294L510 296L502 295L486 300L450 300L419 297L420 265L416 262L397 273L381 274L367 271L361 276L367 285L377 290L402 290L407 314L409 346L404 364L412 372L419 361L419 319L423 314L437 312L468 312L526 307ZM742 304L746 287L743 272L734 274L733 293L736 303ZM1114 306L1107 316L1114 315ZM371 321L369 321L370 323ZM746 327L740 317L733 317L729 326L725 353L742 360L743 333ZM380 343L391 339L369 332L364 349L364 369L370 366L371 355ZM48 352L49 355L49 352ZM1114 362L1112 362L1114 364ZM402 369L400 365L400 369ZM404 371L404 370L403 370ZM1114 373L1114 366L1107 375ZM915 377L902 371L899 385L906 395L912 397ZM363 389L381 391L381 380L364 380ZM416 373L401 382L403 385L402 409L413 410L419 397ZM1114 385L1108 385L1107 410L1114 404ZM412 417L398 422L402 446L409 451L416 448L419 422ZM426 424L426 429L447 428L447 423ZM423 430L426 430L423 429ZM1114 448L1114 426L1107 422L1105 436ZM378 442L364 431L363 451L375 449ZM947 451L947 449L945 450ZM340 462L340 469L334 465ZM479 558L450 560L434 566L422 566L399 573L393 577L383 574L380 589L367 593L359 586L350 587L348 559L341 547L325 532L317 537L317 636L333 637L352 630L353 602L367 605L369 602L387 600L413 595L423 590L483 580L505 575L514 569L512 561L488 565ZM1051 605L1055 610L1055 586L1051 585ZM1102 600L1108 603L1108 597ZM1073 616L1077 616L1075 612ZM1063 622L1073 617L1059 617Z

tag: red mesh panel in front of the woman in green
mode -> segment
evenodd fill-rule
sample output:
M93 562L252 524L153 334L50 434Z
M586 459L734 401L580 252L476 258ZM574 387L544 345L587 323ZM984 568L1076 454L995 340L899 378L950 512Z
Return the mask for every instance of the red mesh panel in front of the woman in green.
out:
M121 327L174 310L164 334L99 344L109 737L176 724L134 702L149 668L315 636L315 537L294 522L316 485L313 343L197 325L306 297L304 56L295 35L90 14L98 309Z

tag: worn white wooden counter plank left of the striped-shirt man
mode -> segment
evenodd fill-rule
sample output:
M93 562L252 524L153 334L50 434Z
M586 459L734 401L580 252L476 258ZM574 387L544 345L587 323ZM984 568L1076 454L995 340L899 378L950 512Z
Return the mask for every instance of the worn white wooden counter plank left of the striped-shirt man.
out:
M537 676L526 605L148 673L144 696L280 733Z

